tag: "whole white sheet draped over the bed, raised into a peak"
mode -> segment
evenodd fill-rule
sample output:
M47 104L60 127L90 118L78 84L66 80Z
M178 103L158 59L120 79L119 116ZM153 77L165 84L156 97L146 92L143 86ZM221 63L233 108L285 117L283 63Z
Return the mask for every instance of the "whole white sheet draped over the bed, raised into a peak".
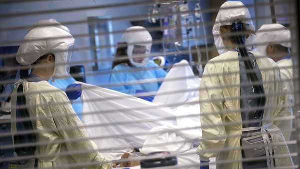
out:
M96 126L86 128L90 137L114 136L93 139L99 148L110 149L106 152L118 152L122 147L143 145L141 152L145 154L153 151L169 151L183 154L177 156L179 164L182 162L181 165L198 163L199 158L193 148L194 142L190 140L197 139L202 134L199 128L200 108L197 103L199 83L200 79L194 76L186 61L174 65L170 70L153 103L117 91L81 83L82 121L86 126ZM157 118L169 119L134 123L134 121ZM115 125L115 123L130 121L131 123ZM109 123L114 125L104 125ZM187 128L191 129L186 130ZM126 137L115 135L126 135ZM153 144L155 146L151 146ZM191 150L194 153L184 155ZM104 154L107 159L118 159L119 155Z

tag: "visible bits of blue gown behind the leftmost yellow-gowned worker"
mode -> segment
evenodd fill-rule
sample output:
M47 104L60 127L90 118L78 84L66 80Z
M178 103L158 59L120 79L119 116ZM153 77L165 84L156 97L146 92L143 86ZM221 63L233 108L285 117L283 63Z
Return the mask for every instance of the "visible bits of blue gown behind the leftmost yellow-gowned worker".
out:
M76 80L73 77L68 77L65 79L55 79L54 82L52 82L51 80L49 80L49 83L55 87L57 87L58 89L61 89L63 91L65 91L66 87L72 83L76 82ZM82 118L82 101L80 99L80 97L76 100L73 101L72 103L72 107L74 109L74 111L76 112L77 116L79 117L79 119Z

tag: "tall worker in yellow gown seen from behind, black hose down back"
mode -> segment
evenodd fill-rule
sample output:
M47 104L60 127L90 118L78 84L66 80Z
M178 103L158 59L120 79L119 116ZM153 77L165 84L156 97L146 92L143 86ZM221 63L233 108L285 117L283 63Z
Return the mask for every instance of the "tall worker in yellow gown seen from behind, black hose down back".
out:
M265 106L261 109L258 101L263 95L255 95L245 62L232 38L233 20L239 19L246 44L251 43L255 28L250 18L248 9L241 2L228 1L221 6L213 26L215 45L220 55L206 64L200 84L202 137L197 154L201 163L216 157L217 169L293 165L282 134L291 130L291 120L274 121L275 118L289 117L292 113L290 107L285 105L286 96L282 92L286 91L286 87L280 82L279 69L270 58L247 46L253 67L251 71L255 72L258 85L263 86ZM262 112L262 120L256 116L259 111ZM251 140L252 136L255 139ZM250 145L256 142L260 145ZM241 144L250 147L241 150ZM273 154L277 156L274 159Z

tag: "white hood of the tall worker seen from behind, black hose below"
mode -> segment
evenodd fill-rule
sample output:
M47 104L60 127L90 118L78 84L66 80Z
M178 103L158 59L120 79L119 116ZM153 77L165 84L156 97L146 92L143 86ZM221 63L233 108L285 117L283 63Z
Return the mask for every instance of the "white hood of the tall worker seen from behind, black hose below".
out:
M236 7L236 8L235 8ZM225 8L225 9L224 9ZM226 9L228 8L228 9ZM235 19L240 19L242 23L249 24L249 29L253 32L255 27L251 19L250 12L246 6L239 1L228 1L222 4L220 10L215 18L215 23L212 28L212 33L214 36L214 43L219 52L223 54L228 50L225 48L223 40L220 36L220 27L224 25L232 25L232 21ZM246 44L252 43L255 36L251 35L246 39Z

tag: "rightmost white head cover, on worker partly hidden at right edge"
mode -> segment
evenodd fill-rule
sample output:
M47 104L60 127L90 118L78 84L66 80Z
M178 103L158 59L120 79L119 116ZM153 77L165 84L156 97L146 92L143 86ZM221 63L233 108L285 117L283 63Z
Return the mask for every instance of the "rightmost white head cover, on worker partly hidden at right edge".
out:
M281 24L264 24L256 32L256 50L267 55L266 48L269 43L281 44L284 47L291 47L291 33ZM258 44L257 44L258 43Z

